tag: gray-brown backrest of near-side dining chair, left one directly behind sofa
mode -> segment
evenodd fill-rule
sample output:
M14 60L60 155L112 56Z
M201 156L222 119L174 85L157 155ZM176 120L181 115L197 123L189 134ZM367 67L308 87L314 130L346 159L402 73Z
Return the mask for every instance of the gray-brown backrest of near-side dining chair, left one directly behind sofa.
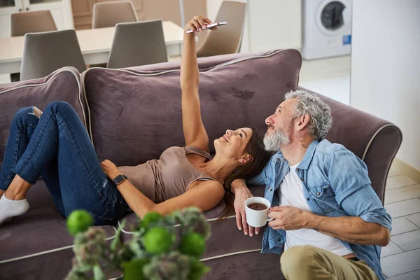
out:
M64 66L86 70L76 31L25 34L20 80L41 78Z

